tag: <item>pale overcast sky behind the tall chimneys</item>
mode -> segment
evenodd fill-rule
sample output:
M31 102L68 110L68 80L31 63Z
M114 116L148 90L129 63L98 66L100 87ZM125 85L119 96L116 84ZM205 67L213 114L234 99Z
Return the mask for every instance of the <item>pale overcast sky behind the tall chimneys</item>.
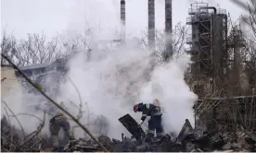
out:
M156 28L164 28L164 0L156 1ZM227 9L233 19L244 10L230 0L209 0L211 5ZM186 23L193 0L173 0L173 22ZM207 2L207 1L204 1ZM17 37L42 33L81 32L87 22L91 27L113 32L120 26L120 0L1 0L1 29ZM219 7L217 6L217 7ZM127 33L137 36L147 29L147 0L126 0Z

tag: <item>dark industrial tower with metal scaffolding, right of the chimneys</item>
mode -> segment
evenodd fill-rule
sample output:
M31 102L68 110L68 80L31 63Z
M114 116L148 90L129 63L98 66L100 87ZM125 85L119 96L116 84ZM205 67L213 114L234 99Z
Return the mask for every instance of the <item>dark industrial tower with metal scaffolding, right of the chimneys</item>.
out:
M236 65L236 56L244 41L241 31L233 29L228 35L228 15L225 9L209 6L207 3L193 3L188 9L186 24L191 26L191 36L186 40L187 51L192 55L191 73L197 80L211 80L211 92L224 88L230 65ZM237 33L237 34L236 34ZM205 82L204 82L205 83ZM224 94L223 91L222 94ZM222 95L221 94L221 95Z

